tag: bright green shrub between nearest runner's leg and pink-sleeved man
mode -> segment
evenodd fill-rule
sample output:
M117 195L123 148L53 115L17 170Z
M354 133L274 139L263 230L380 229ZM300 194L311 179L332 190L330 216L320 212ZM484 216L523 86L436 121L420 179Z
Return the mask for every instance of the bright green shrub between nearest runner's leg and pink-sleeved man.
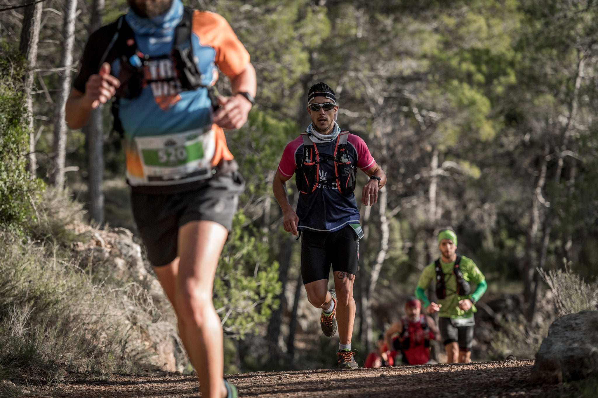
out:
M237 211L233 232L222 251L214 280L214 306L229 335L243 338L256 332L279 305L276 296L282 286L278 263L269 259L269 246L263 234L251 226L241 228L247 219Z

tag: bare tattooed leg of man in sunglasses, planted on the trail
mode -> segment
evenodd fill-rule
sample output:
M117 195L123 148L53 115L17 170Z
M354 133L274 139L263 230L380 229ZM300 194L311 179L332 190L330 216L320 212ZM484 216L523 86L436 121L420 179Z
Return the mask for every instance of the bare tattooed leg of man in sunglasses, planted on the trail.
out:
M353 337L353 322L355 321L353 282L355 282L355 275L343 271L334 272L334 289L337 293L336 317L340 344L350 344Z

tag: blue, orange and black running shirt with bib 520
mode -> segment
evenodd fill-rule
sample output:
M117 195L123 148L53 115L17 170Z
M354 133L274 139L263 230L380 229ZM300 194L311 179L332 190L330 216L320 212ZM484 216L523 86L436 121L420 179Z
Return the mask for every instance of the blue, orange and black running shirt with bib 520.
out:
M130 10L125 17L139 52L148 57L141 95L120 98L127 181L137 192L193 189L197 181L209 177L213 166L233 159L224 131L212 124L208 90L184 91L178 81L170 54L183 10L181 0L175 0L161 16L141 18ZM85 92L87 79L99 70L116 29L114 22L91 34L74 80L78 91ZM191 41L202 84L208 87L218 80L218 68L232 78L249 63L249 53L218 14L193 11ZM111 74L118 76L119 71L117 58L111 62Z

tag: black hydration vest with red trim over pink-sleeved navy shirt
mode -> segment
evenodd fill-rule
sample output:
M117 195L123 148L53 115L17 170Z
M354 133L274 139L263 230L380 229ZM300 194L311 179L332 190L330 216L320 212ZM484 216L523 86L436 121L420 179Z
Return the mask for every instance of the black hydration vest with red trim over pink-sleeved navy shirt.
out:
M303 137L303 157L296 171L295 183L301 193L312 193L320 182L320 163L334 162L334 178L338 192L349 195L355 190L355 174L357 167L351 163L347 142L349 131L343 130L338 134L334 153L328 155L318 151L318 146L310 140L306 132Z

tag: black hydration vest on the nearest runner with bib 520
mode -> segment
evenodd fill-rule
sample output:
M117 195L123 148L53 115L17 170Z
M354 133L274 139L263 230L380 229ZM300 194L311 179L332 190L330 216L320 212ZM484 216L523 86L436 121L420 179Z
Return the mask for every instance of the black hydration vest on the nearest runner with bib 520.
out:
M193 10L185 7L179 24L175 27L172 50L170 54L150 57L141 53L135 41L135 32L125 20L125 16L118 17L115 22L116 32L112 36L110 44L104 51L98 65L102 63L120 60L120 71L118 80L120 87L116 90L116 99L112 102L112 115L114 115L114 130L123 134L123 127L118 118L120 109L120 98L134 99L141 95L142 89L153 81L151 76L146 76L144 65L149 61L168 59L174 67L173 75L167 79L160 79L160 82L167 82L176 92L193 91L203 87L208 90L208 96L212 101L213 109L218 108L218 100L213 93L212 86L202 84L202 73L197 69L194 60L193 45L191 41Z

